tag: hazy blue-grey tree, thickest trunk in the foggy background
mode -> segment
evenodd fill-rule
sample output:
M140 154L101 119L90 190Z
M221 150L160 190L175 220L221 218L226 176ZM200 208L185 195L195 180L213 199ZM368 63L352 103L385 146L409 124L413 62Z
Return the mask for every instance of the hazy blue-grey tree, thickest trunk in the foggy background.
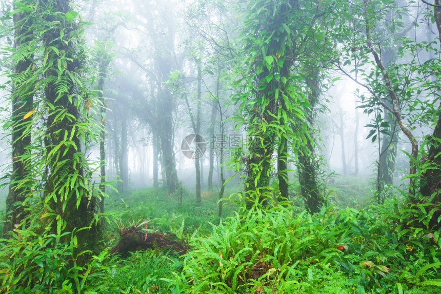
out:
M145 110L143 117L149 121L152 128L155 127L153 133L157 135L160 147L157 151L161 150L164 183L168 191L173 193L177 190L179 182L174 156L176 103L174 93L167 85L171 73L178 68L178 59L174 48L176 26L173 18L173 4L153 1L135 2L134 5L143 8L139 10L142 11L142 14L138 14L138 18L143 19L139 24L142 24L146 29L146 32L143 32L143 37L147 38L146 42L151 44L152 54L145 62L142 62L141 58L138 60L133 55L130 57L147 74L148 79L154 82L154 99L150 103L145 103L142 108ZM153 22L153 19L156 22Z

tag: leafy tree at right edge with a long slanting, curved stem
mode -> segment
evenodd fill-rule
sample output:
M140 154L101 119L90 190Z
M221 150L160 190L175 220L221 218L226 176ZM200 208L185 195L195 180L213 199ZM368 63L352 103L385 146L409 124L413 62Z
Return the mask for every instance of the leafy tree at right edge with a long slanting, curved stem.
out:
M424 1L426 2L426 1ZM439 3L439 1L437 1ZM433 6L433 16L437 24L438 32L441 22L439 21L439 7L436 3L430 4ZM439 153L439 139L441 139L440 109L433 106L430 101L439 99L439 58L432 57L425 63L420 63L418 60L418 52L420 50L435 50L439 54L439 50L434 49L431 42L417 43L414 40L409 40L406 36L402 37L402 42L398 44L398 48L394 49L398 57L405 57L405 61L400 61L399 58L393 63L393 66L385 64L380 56L380 49L387 47L389 40L382 38L375 28L378 19L385 19L388 13L395 9L393 1L382 0L364 0L359 3L345 4L346 11L353 11L353 13L343 13L348 17L349 22L353 23L354 27L362 28L358 31L359 35L356 38L348 38L348 31L344 29L340 31L337 38L344 40L342 43L343 51L337 58L336 65L342 70L350 79L358 85L364 87L369 91L370 97L362 97L368 113L372 113L375 109L384 108L393 116L396 121L397 128L406 136L410 145L409 154L409 202L408 206L414 206L415 211L424 211L425 226L439 226L439 215L441 208L439 208L438 185L441 179L439 173L440 164ZM353 17L356 11L362 11L362 18ZM352 15L351 15L352 14ZM399 21L400 16L392 19L390 22L394 26L403 26ZM411 45L412 44L412 45ZM365 82L356 79L347 70L345 65L350 64L349 58L353 60L353 55L363 58L366 64L373 65L372 70L363 74ZM369 57L367 57L369 56ZM339 58L344 57L345 63L342 65ZM351 68L352 69L352 68ZM422 80L419 76L424 76L425 79L433 76L433 81ZM416 90L415 90L416 89ZM424 93L425 99L420 95ZM417 109L423 109L418 112ZM419 148L418 141L415 136L415 126L419 124L430 125L433 117L435 119L435 126L431 136L425 138L422 146L429 146L428 148ZM384 125L380 122L380 117L376 117L376 125L372 124L380 132L385 130ZM370 135L378 132L371 130ZM373 137L375 139L375 137ZM426 151L428 149L428 152ZM427 152L427 153L426 153ZM424 209L422 209L424 207ZM417 215L417 213L415 213ZM421 225L421 224L419 224Z

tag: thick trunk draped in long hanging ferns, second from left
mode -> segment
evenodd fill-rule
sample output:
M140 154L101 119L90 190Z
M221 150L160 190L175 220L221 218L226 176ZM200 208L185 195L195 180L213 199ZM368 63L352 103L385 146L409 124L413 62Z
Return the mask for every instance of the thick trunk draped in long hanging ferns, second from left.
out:
M62 223L64 231L68 232L87 227L75 233L77 250L92 250L94 253L99 250L97 245L101 239L101 226L94 221L97 199L88 186L89 179L85 175L87 161L79 141L84 128L80 111L84 113L84 108L79 109L78 105L84 107L84 103L77 100L83 97L87 99L87 94L79 92L84 88L77 85L77 81L82 78L83 60L78 43L72 41L75 40L74 36L78 36L78 33L81 36L82 32L78 32L74 21L65 18L65 14L72 9L68 0L46 0L41 2L41 6L46 10L44 21L51 24L43 33L43 44L48 48L45 101L53 107L46 120L48 166L45 199L52 211L62 218L53 220L54 233L59 233ZM54 23L58 25L52 25ZM49 46L57 50L49 49ZM64 57L57 52L64 52ZM73 75L75 80L71 79ZM70 234L65 238L69 237Z

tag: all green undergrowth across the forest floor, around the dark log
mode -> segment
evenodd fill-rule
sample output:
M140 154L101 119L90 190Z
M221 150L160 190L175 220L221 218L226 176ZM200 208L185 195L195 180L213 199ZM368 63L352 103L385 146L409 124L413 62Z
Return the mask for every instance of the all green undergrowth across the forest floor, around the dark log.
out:
M188 240L185 256L104 249L79 266L75 239L34 218L0 241L0 293L439 293L439 230L418 226L426 215L403 199L314 215L280 205L233 212L227 201L231 216L220 221L215 193L201 207L168 197L145 189L110 202L107 246L117 224L147 219L149 230Z

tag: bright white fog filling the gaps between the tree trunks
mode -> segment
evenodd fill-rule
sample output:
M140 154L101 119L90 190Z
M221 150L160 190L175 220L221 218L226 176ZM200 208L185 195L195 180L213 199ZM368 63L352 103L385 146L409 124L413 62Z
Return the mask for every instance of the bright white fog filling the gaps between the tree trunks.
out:
M235 54L231 48L238 36L242 12L229 12L229 6L237 6L226 2L207 8L203 14L199 11L201 3L108 0L78 4L82 20L88 23L85 30L91 62L94 70L103 72L105 77L102 94L106 107L107 180L117 181L115 186L122 193L165 184L166 164L173 162L178 180L195 189L192 156L201 151L195 149L201 146L185 141L194 133L206 143L199 158L202 188L209 185L211 158L212 186L222 186L220 153L225 162L225 178L229 179L227 186L234 187L242 181L243 170L236 167L243 160L240 152L247 149L247 127L240 125L236 117L240 112L230 80L234 79L234 61L229 61ZM417 13L421 11L411 8L407 22L413 22ZM421 24L406 33L417 36L420 42L433 40L435 32L433 24ZM419 54L420 62L430 57L430 52ZM216 55L222 58L216 59ZM320 168L328 178L374 181L382 141L366 139L370 133L366 126L375 116L357 108L362 105L361 97L369 92L335 70L329 70L324 80L326 87L320 94L321 106L313 126L315 150L322 160ZM97 81L92 87L99 91ZM8 91L2 95L7 96ZM8 105L2 103L2 120L8 111ZM424 126L416 129L419 135L429 133ZM6 130L1 135L4 176L10 169L10 142ZM410 150L410 144L401 137L399 134L393 179L398 185L408 169L402 150ZM97 144L86 152L92 161L99 160ZM295 156L289 161L293 170L290 177L295 178ZM98 181L98 174L95 177ZM6 192L4 186L2 194Z

